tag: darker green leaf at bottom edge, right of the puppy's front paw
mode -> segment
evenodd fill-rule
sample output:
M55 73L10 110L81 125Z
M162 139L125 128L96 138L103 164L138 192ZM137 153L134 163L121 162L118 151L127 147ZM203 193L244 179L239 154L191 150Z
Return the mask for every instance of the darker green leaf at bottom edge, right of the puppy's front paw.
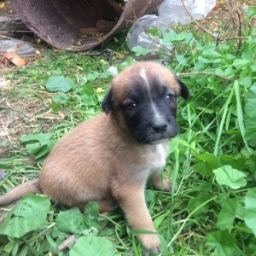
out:
M207 245L215 247L214 256L232 256L236 251L235 238L227 230L218 230L209 234Z

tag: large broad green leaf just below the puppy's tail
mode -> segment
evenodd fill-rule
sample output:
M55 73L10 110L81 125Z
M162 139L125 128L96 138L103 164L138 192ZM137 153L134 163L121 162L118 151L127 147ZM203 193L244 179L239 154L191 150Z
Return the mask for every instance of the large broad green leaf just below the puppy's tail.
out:
M50 201L42 195L23 196L20 203L6 216L0 226L0 234L19 238L37 230L46 221Z

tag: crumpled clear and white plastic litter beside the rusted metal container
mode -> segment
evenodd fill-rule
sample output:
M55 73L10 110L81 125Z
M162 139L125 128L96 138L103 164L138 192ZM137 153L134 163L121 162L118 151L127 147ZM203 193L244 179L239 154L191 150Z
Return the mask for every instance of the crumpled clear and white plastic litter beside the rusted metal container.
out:
M216 0L184 0L183 1L189 13L195 20L201 20L216 5ZM159 37L153 37L147 33L148 28L160 28L162 31L169 28L169 24L181 23L189 24L192 18L183 7L180 0L165 0L158 7L159 16L145 15L137 20L131 26L127 34L127 45L129 49L135 46L142 46L145 49L153 49L160 53L166 53L172 46L166 45Z

